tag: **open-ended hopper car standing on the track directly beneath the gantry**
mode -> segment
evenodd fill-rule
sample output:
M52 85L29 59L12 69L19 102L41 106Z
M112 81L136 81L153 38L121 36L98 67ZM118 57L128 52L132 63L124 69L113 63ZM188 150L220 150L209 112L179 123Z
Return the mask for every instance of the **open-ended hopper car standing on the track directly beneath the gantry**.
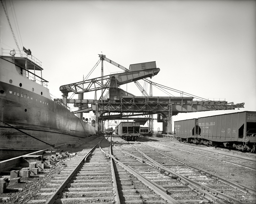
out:
M126 141L136 141L140 135L140 122L121 122L118 135Z

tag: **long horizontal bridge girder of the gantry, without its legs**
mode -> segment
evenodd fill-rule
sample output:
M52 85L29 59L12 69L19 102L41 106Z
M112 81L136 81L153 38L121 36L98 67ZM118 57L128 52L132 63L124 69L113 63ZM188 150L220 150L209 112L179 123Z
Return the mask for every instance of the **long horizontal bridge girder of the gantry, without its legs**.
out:
M69 99L68 103L74 103L82 108L73 113L95 111L95 100ZM91 108L88 108L88 104ZM172 115L178 113L211 111L211 110L233 110L244 108L244 103L228 103L226 101L193 101L193 97L137 97L129 98L123 96L121 102L108 102L107 100L98 101L98 111L102 112L151 112L159 113L169 111L169 104L172 105ZM83 106L86 107L83 109Z

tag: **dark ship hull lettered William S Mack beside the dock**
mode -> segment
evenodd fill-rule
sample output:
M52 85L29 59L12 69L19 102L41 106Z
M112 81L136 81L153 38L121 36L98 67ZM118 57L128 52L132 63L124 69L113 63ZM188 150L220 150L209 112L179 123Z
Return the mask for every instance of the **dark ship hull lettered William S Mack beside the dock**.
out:
M5 73L1 67L1 74ZM53 101L48 89L34 81L24 81L27 79L23 76L13 79L19 80L17 84L31 84L31 91L23 85L8 83L8 79L3 82L1 78L0 160L95 135L95 127ZM35 91L37 88L41 90Z

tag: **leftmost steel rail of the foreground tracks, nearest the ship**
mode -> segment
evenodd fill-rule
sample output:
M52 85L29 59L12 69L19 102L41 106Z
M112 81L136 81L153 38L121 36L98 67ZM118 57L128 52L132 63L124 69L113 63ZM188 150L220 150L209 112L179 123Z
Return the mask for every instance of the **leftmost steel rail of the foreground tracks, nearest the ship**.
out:
M101 142L101 141L100 141ZM100 143L99 142L99 143ZM54 204L56 199L59 196L59 193L63 191L63 189L67 186L67 184L69 183L69 181L72 179L72 177L74 176L74 174L76 173L77 169L79 169L79 167L83 164L84 161L86 161L87 157L93 152L93 150L95 149L95 147L99 144L97 143L88 153L87 155L85 155L81 161L79 162L79 164L74 168L74 170L69 174L69 176L65 179L65 181L63 181L63 183L59 186L59 188L54 192L54 194L45 202L45 204Z

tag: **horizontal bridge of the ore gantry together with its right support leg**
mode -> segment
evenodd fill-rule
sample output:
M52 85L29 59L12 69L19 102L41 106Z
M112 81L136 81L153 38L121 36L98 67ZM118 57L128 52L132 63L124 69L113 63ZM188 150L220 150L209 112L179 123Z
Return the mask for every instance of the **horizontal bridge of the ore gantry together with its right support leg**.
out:
M127 117L123 113L136 113L129 116L161 114L163 117L163 132L172 132L172 116L178 113L211 111L211 110L234 110L243 108L244 103L234 104L226 101L193 101L193 97L171 97L171 96L122 96L118 102L109 103L108 100L69 100L69 103L83 105L91 104L86 108L73 113L93 111L99 120L114 120ZM97 114L98 113L98 114ZM120 113L118 115L104 116L105 113Z

